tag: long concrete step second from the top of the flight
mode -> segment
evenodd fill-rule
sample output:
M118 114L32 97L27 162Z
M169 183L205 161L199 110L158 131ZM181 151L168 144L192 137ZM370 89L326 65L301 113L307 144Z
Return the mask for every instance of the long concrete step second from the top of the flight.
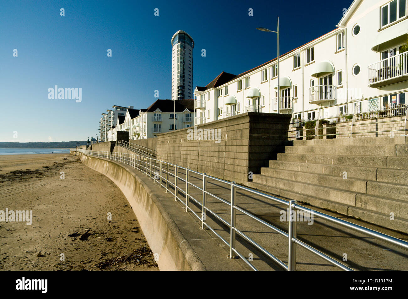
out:
M406 145L404 145L406 146ZM402 152L402 151L401 151ZM302 145L286 146L287 154L397 156L395 145Z

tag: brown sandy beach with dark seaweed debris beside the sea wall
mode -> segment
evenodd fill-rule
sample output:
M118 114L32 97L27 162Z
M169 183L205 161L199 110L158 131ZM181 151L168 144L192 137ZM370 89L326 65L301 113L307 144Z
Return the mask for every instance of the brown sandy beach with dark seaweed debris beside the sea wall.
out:
M78 157L0 156L6 208L33 219L0 221L0 270L158 270L120 189Z

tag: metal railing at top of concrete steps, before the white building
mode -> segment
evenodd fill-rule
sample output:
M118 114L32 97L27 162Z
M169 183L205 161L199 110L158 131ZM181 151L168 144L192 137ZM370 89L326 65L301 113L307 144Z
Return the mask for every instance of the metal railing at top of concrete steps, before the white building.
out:
M408 91L408 90L406 90ZM404 91L400 91L404 92ZM389 96L384 95L384 96ZM408 135L408 109L406 103L401 103L401 104L391 104L391 105L385 105L382 106L380 103L380 99L382 96L378 96L375 98L362 98L359 100L352 100L347 103L341 103L341 104L336 104L336 105L330 105L330 106L325 106L322 108L318 109L310 109L302 112L296 112L293 114L299 115L299 114L306 114L308 112L316 112L317 111L317 118L311 119L311 120L316 120L315 128L314 129L298 129L298 130L289 130L288 133L294 134L294 136L288 136L288 138L301 138L301 137L319 137L319 136L336 136L336 135L350 135L350 137L355 137L356 134L378 134L378 133L386 133L386 132L401 132L402 135ZM336 107L336 109L339 109L339 107L344 107L345 111L344 113L338 113L335 116L322 116L322 110L323 109L330 109ZM351 111L351 113L348 113L348 111ZM396 117L396 116L403 116L404 119L402 120L404 124L401 126L401 129L378 129L377 125L381 124L387 124L387 123L395 123L395 122L401 122L400 118L396 119L388 119L388 120L381 120L381 118L390 118L390 117ZM361 120L366 120L366 121L361 121ZM372 121L370 121L372 120ZM308 120L309 121L309 120ZM333 124L333 129L335 128L336 130L338 128L344 128L344 127L350 127L350 130L348 132L335 132L335 133L328 133L328 134L319 134L319 129L322 129L322 127L319 127L319 123L322 121L325 121L326 123L332 123ZM357 123L359 121L359 123ZM305 125L304 120L299 120L298 118L293 118L292 121L290 122L290 125L292 128L295 128L297 125L302 124L303 126ZM371 131L371 130L360 130L358 131L358 127L362 125L376 125L376 129ZM309 131L311 132L314 130L314 134L310 134L308 136L302 136L300 135L300 132L302 131ZM306 134L307 135L307 134Z

